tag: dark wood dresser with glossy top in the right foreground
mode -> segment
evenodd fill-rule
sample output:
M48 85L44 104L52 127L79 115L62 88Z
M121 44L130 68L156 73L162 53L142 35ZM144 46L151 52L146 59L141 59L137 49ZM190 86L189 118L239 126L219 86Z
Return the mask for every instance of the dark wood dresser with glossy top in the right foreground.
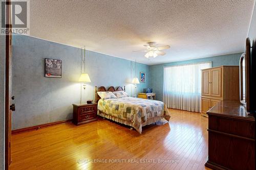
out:
M255 118L239 101L223 101L208 112L208 160L212 169L255 169Z

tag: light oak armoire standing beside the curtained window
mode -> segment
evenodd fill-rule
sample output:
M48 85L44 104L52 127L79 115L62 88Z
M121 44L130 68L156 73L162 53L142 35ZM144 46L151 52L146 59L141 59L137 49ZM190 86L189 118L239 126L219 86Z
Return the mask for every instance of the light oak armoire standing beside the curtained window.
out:
M202 69L201 114L224 100L239 100L239 66Z

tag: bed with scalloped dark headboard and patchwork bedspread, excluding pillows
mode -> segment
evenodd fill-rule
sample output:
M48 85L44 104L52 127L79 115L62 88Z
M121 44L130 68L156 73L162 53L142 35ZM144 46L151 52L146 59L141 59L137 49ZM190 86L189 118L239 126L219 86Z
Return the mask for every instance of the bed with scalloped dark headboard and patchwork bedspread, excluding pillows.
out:
M125 87L124 87L125 90ZM140 134L142 127L158 122L162 118L169 121L170 114L163 102L140 98L124 97L118 99L100 99L98 91L123 91L122 87L116 90L113 86L108 90L104 86L95 87L95 99L98 103L97 114L114 120L115 122L131 126Z

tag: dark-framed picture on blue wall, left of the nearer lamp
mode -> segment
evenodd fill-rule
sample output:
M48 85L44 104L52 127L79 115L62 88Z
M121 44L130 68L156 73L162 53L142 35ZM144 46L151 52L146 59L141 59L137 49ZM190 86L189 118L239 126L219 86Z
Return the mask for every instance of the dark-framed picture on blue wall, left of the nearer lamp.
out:
M61 78L62 76L62 61L46 58L45 61L45 77Z

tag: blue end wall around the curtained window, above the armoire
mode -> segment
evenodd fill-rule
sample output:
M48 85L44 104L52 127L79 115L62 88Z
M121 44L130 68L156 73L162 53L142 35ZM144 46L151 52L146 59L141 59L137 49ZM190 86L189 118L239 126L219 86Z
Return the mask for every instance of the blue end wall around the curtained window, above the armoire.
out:
M207 57L179 62L170 62L164 64L150 65L150 86L153 88L153 91L156 92L156 99L159 101L163 100L163 67L171 65L181 65L189 63L197 63L203 61L212 61L212 66L220 65L239 65L239 60L242 53L229 54L215 57Z

